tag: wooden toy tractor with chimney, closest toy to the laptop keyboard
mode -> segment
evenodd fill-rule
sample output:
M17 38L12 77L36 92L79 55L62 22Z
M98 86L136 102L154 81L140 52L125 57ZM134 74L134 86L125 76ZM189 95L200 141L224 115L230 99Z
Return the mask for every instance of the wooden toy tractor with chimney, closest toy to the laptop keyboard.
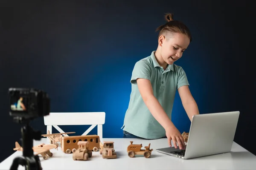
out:
M133 144L133 141L130 141L131 144L127 147L128 156L133 158L135 155L144 155L145 158L149 158L151 156L151 152L153 149L150 149L150 143L148 146L145 146L144 149L140 149L142 144Z

